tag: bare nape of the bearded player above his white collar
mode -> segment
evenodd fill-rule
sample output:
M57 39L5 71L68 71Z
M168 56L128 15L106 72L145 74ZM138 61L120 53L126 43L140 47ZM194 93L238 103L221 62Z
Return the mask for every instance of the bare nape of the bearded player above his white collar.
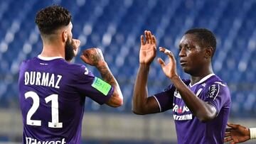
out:
M64 45L58 44L43 44L43 50L41 52L42 57L63 57L65 58Z

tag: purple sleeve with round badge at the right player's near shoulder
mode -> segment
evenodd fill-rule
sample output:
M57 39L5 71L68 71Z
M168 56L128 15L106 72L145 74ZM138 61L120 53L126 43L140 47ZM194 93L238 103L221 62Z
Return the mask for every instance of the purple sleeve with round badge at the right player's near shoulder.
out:
M230 106L231 98L228 86L220 82L215 82L208 87L206 92L206 100L209 104L212 104L217 113L225 106Z

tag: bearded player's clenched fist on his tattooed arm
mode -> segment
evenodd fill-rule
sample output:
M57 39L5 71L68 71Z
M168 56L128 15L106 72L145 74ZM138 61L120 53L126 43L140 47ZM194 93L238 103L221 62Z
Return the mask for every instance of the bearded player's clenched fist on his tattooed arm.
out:
M89 48L87 50L83 50L80 58L85 63L95 67L99 67L102 63L105 63L100 48Z

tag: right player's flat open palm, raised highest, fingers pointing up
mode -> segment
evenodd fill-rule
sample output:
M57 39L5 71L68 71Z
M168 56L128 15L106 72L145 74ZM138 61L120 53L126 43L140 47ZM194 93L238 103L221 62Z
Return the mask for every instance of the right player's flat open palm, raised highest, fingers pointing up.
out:
M151 34L150 31L144 31L144 36L141 35L141 47L139 50L139 63L150 65L156 57L156 38Z

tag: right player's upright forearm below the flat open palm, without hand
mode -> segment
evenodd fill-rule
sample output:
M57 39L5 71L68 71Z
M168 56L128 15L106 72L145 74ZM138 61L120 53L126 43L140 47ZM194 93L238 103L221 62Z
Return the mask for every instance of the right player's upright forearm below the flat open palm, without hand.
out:
M147 77L149 74L149 65L139 65L137 79L134 84L134 93L132 99L132 111L137 114L145 114L147 91Z

